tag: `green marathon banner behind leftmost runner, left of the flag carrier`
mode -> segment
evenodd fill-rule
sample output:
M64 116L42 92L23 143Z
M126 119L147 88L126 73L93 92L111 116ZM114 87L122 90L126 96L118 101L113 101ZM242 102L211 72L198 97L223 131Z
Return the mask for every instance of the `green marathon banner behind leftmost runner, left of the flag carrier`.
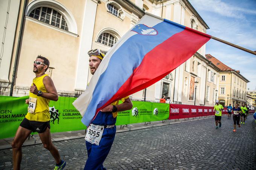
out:
M27 114L25 100L29 96L0 96L0 138L14 137L18 126ZM86 127L81 122L81 114L72 105L76 98L59 97L58 101L50 101L51 132L77 131Z

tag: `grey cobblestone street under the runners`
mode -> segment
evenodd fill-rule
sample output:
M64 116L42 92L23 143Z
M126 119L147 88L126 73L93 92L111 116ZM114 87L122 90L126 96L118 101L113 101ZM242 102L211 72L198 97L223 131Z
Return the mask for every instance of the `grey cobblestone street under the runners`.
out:
M256 123L252 114L236 133L233 120L222 117L117 133L104 165L107 169L234 169L256 168ZM119 126L120 128L120 126ZM83 138L56 141L66 170L83 169L87 159ZM41 144L24 146L24 170L53 169L50 152ZM0 150L0 169L12 168L12 150Z

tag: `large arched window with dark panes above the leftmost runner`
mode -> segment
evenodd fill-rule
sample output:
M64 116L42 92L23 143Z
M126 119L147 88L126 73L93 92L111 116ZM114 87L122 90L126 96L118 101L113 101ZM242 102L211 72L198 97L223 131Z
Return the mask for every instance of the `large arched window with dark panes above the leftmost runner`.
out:
M29 17L35 18L46 24L68 31L65 18L57 11L48 7L38 7L30 12Z

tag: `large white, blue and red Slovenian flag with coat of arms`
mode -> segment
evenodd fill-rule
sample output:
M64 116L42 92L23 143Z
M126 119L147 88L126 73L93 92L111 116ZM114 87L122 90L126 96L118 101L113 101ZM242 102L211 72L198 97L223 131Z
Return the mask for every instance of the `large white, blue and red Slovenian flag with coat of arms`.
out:
M161 80L209 41L210 35L152 14L144 15L105 55L73 102L88 126L98 112Z

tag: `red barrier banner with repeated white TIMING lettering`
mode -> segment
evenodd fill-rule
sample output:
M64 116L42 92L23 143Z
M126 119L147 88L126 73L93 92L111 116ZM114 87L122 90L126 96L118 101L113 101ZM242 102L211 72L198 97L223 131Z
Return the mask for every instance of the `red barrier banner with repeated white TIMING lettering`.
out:
M170 104L169 119L183 119L189 117L210 116L214 115L213 107Z

